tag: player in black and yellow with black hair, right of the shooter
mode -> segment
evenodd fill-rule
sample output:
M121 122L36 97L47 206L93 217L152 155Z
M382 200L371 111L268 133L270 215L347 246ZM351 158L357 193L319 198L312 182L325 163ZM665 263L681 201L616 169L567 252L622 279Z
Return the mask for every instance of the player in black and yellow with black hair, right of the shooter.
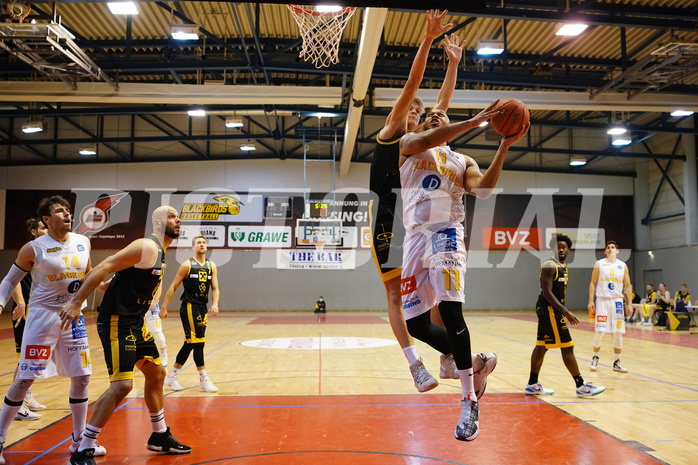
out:
M555 392L541 386L538 382L538 374L548 349L559 348L562 352L562 361L577 385L577 397L595 396L601 394L606 388L594 386L582 378L577 359L574 357L574 342L567 326L568 323L579 324L574 313L565 307L567 293L565 260L572 248L572 240L563 234L557 234L550 240L550 248L557 251L557 256L546 260L540 269L540 294L536 303L538 337L536 347L531 354L531 374L525 392L533 396L549 395Z

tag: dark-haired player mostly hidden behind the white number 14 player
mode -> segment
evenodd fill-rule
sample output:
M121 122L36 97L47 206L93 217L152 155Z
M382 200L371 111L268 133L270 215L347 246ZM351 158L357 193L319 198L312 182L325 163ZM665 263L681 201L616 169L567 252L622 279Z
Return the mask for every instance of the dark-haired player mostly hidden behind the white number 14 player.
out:
M27 232L31 236L31 240L41 237L48 233L46 225L41 221L41 218L30 218L27 220ZM24 335L24 326L27 320L27 306L29 304L29 294L32 287L32 275L27 273L27 275L22 278L15 291L12 293L12 299L14 300L12 308L12 329L15 336L15 349L17 351L17 357L22 353L22 336ZM19 364L17 364L17 369L15 374L12 376L12 381L17 378L17 372L19 370ZM46 410L45 405L41 405L36 401L32 395L32 390L29 388L27 394L24 396L24 405L19 409L15 420L38 420L41 415L34 413L36 411Z

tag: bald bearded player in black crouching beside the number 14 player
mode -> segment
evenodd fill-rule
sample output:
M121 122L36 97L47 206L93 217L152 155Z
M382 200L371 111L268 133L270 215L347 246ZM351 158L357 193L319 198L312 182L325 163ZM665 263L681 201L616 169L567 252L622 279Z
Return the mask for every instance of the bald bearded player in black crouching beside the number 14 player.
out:
M97 436L109 417L133 389L133 368L145 377L143 398L153 429L146 447L157 452L186 454L191 447L177 442L165 424L163 382L167 372L160 363L158 348L144 325L143 316L157 292L165 271L165 251L179 237L177 210L162 206L153 212L153 234L137 239L106 258L88 273L73 300L61 311L62 324L77 316L80 304L109 273L109 283L97 317L97 333L109 370L109 388L95 402L90 421L71 464L93 465Z

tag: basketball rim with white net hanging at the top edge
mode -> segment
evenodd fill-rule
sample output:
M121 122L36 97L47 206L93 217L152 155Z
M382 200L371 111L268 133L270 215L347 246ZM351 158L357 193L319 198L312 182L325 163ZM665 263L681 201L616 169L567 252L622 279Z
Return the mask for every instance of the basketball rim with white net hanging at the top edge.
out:
M303 38L303 47L298 56L312 61L318 69L339 63L339 42L356 7L322 13L298 5L286 6L291 10Z

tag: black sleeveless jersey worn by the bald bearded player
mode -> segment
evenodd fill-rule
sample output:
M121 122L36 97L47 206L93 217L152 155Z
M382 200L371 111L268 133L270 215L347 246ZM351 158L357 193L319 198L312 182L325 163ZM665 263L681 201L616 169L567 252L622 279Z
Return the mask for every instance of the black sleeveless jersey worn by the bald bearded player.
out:
M153 241L158 248L152 268L130 267L118 271L104 293L100 312L143 318L148 311L165 271L165 250L154 234L145 237L145 240Z

